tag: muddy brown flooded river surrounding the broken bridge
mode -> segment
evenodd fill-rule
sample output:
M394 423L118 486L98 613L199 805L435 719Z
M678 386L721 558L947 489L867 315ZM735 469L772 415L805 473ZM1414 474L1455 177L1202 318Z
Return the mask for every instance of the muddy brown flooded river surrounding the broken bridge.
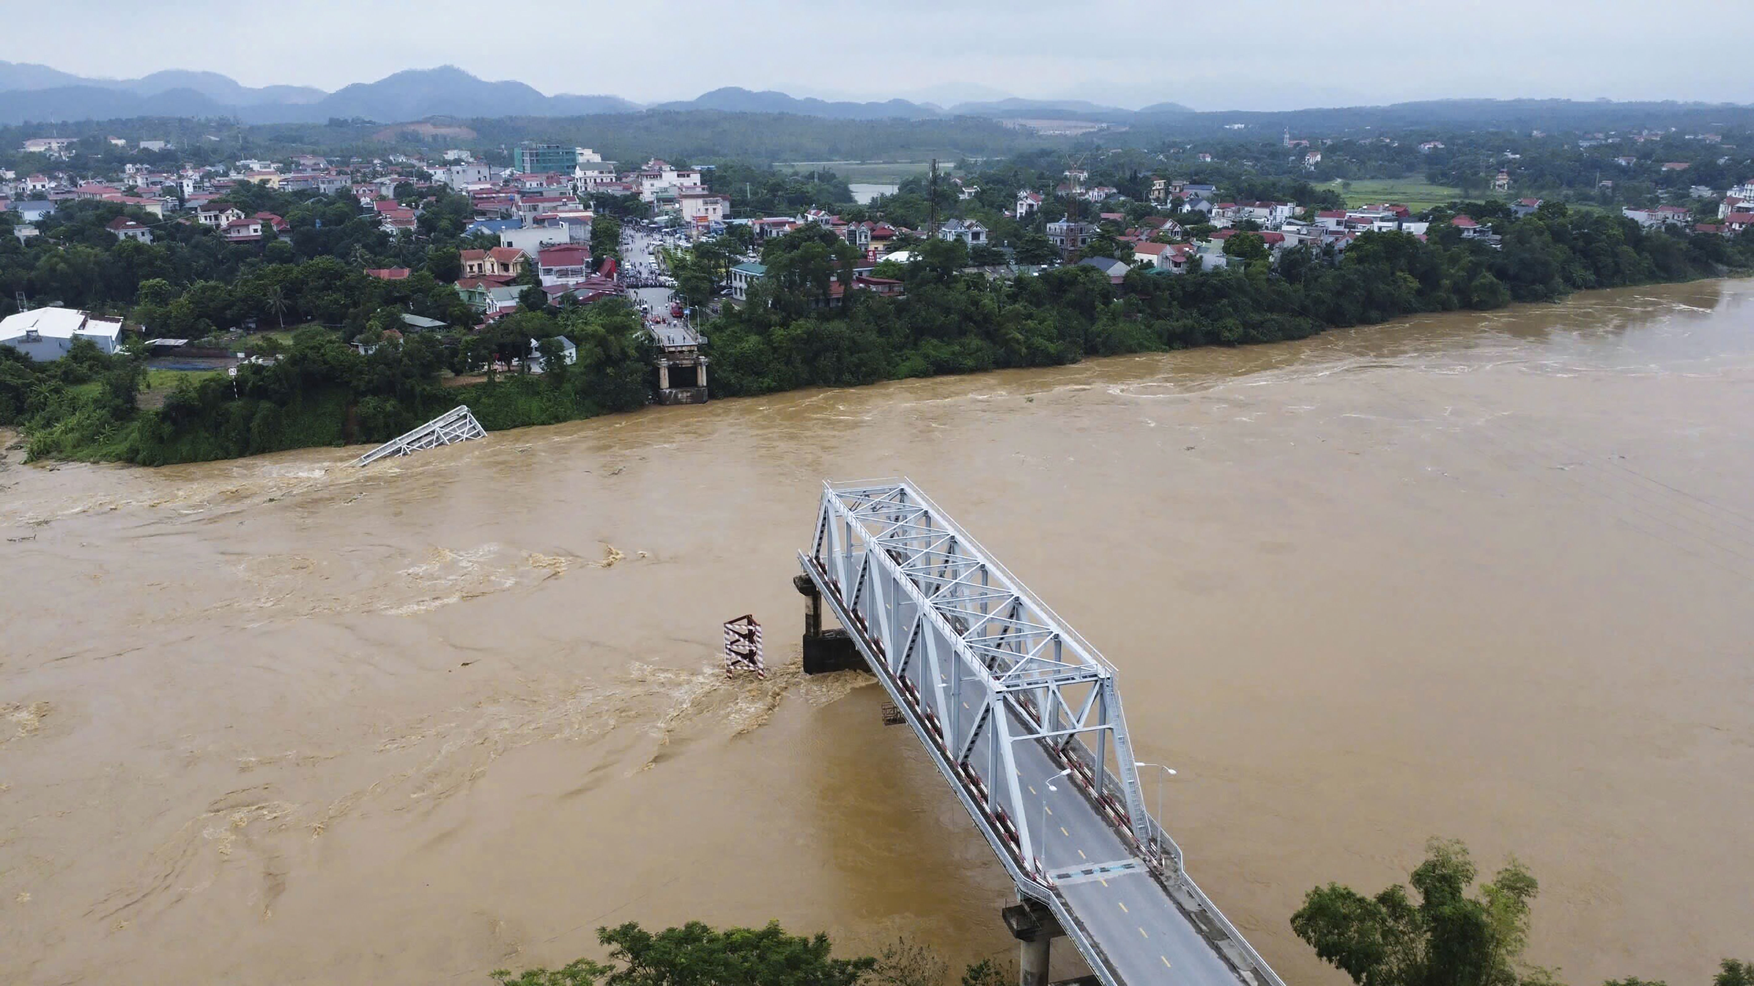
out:
M1287 926L1430 835L1531 958L1754 956L1754 282L652 408L389 461L0 469L0 981L484 984L700 918L1010 958L854 674L828 478L912 476L1119 667L1189 870ZM766 627L726 683L719 623ZM1070 970L1070 963L1068 970Z

